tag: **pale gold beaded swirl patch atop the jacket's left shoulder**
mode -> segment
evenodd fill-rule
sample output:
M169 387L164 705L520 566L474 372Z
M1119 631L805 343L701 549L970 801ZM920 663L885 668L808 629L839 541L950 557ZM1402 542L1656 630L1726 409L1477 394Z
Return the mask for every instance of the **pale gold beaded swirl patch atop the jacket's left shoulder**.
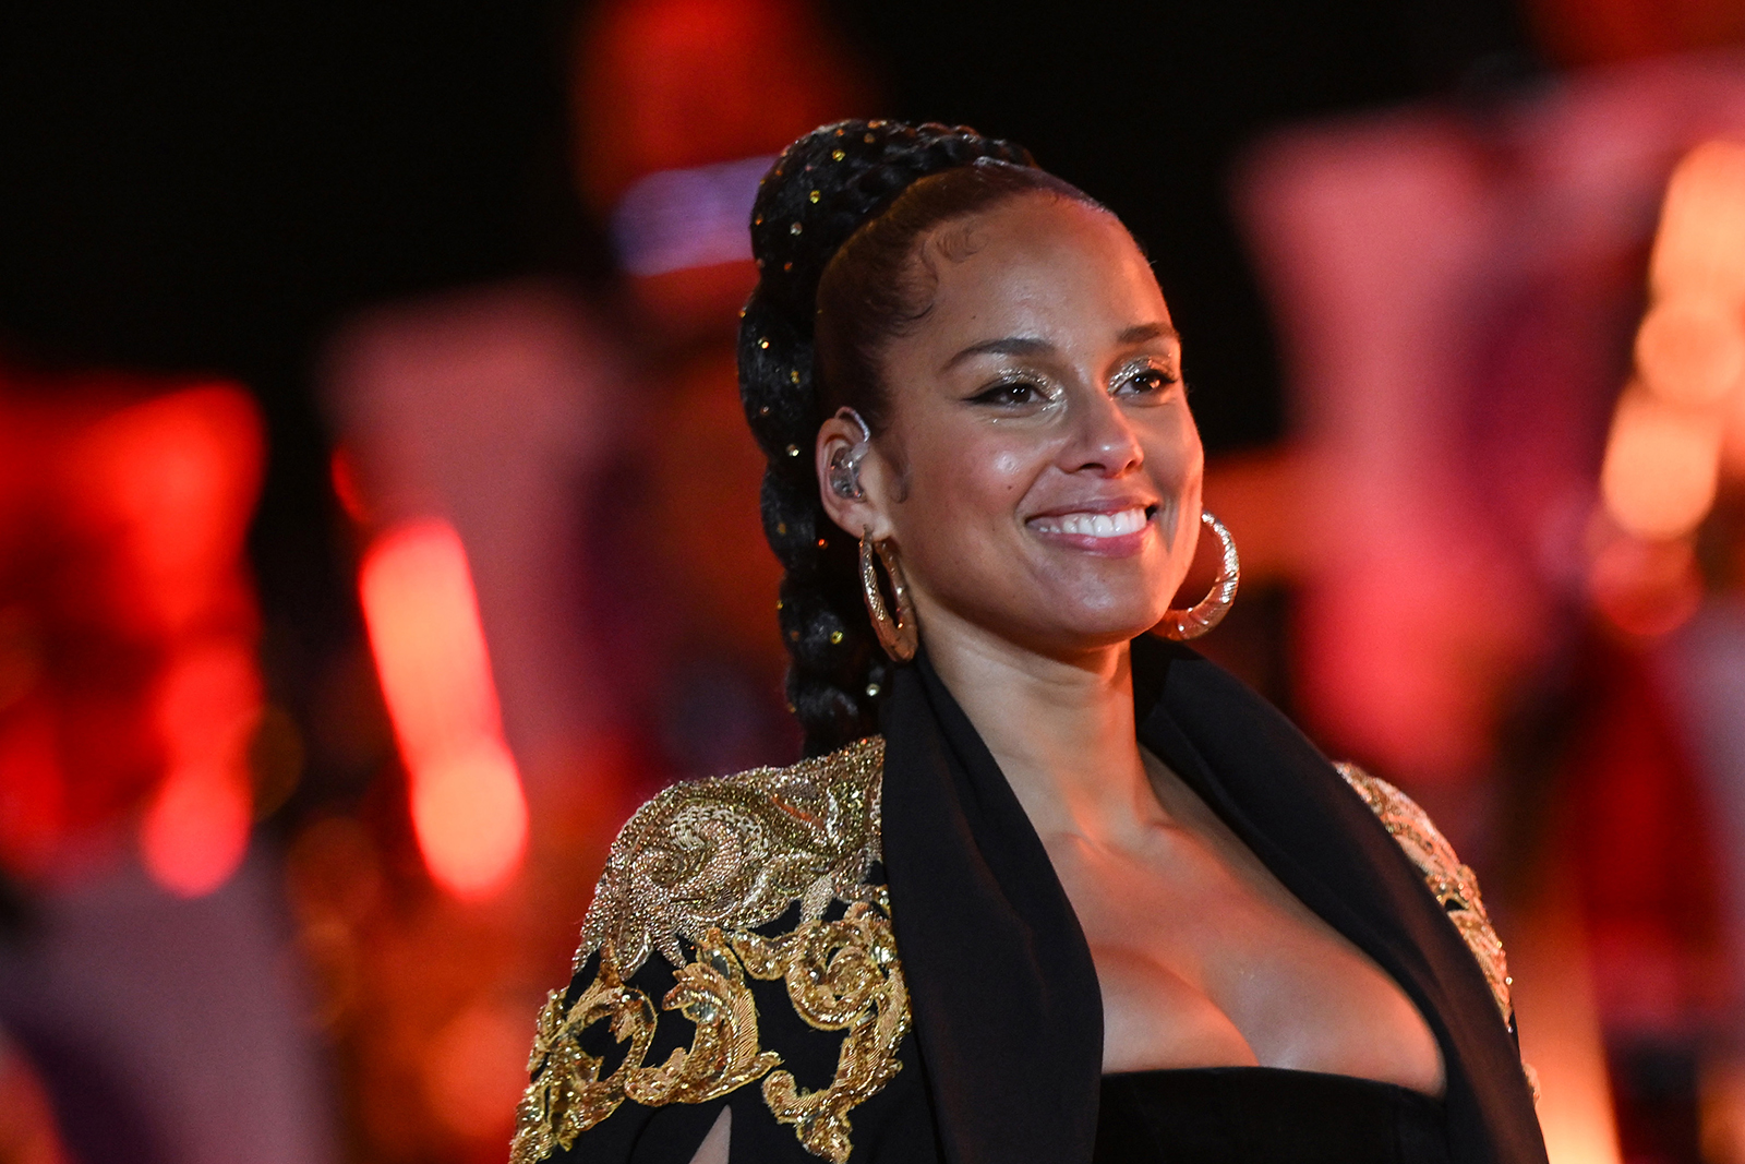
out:
M885 740L869 736L790 768L677 784L612 841L583 923L576 969L604 953L635 974L651 953L684 962L710 928L752 930L796 900L801 920L831 900L867 900L879 860Z

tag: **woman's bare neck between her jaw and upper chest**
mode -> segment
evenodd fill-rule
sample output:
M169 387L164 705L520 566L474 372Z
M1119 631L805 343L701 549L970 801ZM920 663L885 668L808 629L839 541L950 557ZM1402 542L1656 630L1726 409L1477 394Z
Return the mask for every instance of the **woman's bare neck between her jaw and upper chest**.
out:
M1157 818L1126 642L1056 658L941 614L923 623L928 660L1044 839L1115 841Z

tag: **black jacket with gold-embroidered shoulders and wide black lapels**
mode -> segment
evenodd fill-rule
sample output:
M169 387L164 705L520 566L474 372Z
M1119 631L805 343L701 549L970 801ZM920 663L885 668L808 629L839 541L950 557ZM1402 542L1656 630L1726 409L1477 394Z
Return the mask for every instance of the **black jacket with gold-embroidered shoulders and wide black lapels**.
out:
M1139 743L1429 1021L1450 1159L1544 1164L1506 986L1450 923L1476 894L1427 888L1384 806L1227 672L1148 637L1133 672ZM722 1105L735 1164L1089 1164L1101 995L1042 839L925 654L881 728L881 754L632 818L541 1016L515 1164L686 1164Z

